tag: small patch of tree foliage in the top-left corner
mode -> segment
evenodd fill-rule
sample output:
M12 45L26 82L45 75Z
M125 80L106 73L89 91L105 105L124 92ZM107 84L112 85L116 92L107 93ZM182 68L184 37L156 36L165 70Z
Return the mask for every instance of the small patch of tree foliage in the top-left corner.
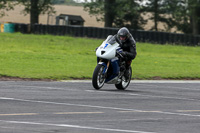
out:
M0 0L0 18L5 16L5 11L13 10L14 4L11 0Z

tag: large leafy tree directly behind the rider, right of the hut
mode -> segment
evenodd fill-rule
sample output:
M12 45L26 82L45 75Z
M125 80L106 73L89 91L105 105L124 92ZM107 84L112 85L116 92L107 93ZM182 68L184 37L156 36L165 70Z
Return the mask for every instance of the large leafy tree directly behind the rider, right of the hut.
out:
M105 22L105 27L122 27L141 29L145 23L141 17L138 0L96 0L84 5L90 15L97 21ZM141 1L141 0L140 0Z

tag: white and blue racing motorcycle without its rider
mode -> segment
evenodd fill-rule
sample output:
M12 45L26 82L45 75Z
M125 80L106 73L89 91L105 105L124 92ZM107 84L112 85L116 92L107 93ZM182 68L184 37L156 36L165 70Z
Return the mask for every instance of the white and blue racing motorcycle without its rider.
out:
M107 39L96 49L97 66L93 72L92 85L99 90L104 83L115 84L118 90L125 90L131 81L132 68L126 68L126 62L121 54L114 36ZM126 74L125 74L126 73Z

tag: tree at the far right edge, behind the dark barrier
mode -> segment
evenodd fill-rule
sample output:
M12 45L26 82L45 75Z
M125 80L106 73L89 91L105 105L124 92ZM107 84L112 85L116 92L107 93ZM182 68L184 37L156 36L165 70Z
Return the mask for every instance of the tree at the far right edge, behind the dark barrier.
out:
M200 33L200 0L173 0L169 7L169 27L193 35Z

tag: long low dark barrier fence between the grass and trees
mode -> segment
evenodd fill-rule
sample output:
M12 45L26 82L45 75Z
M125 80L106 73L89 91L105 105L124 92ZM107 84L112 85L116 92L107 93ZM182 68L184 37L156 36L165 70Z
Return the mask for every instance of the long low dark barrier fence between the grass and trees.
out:
M16 31L28 33L29 26L16 24ZM117 33L118 28L97 28L82 26L34 25L34 34L70 35L75 37L88 37L105 39L108 35ZM200 36L176 34L168 32L130 30L137 42L150 42L158 44L181 44L187 46L200 46Z

